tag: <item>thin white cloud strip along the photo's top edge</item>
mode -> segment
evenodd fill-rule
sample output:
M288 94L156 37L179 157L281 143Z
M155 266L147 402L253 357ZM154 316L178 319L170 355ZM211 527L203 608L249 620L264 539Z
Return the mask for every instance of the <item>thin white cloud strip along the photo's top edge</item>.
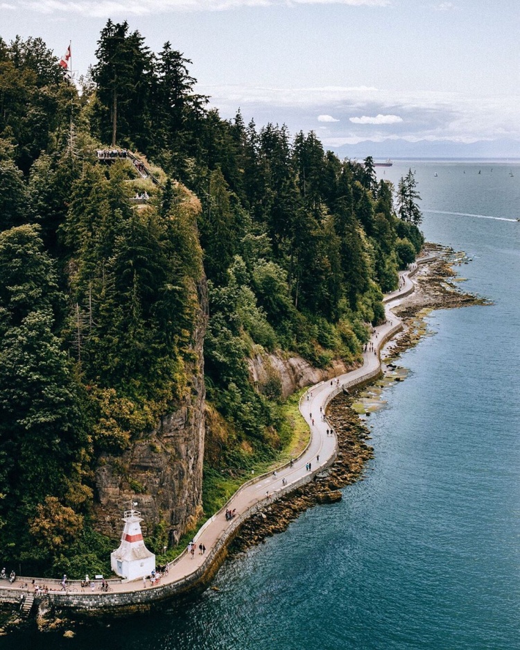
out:
M294 6L296 4L341 4L387 7L392 0L24 0L33 10L79 13L89 17L157 15L175 11L223 11L238 7Z

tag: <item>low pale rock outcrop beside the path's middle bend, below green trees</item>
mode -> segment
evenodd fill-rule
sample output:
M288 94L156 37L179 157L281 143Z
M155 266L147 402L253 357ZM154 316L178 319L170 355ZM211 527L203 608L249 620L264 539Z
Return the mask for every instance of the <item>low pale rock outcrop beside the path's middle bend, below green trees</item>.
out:
M314 368L302 357L284 359L279 354L257 354L248 359L248 365L253 382L259 390L274 381L279 385L280 395L284 398L304 386L352 370L352 366L347 366L338 359L334 359L327 368Z

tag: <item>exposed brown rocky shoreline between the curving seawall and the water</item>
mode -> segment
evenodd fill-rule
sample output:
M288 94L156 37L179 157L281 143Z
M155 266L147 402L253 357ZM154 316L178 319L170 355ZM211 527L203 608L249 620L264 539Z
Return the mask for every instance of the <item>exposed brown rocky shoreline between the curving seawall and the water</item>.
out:
M470 305L489 305L484 298L460 291L453 282L457 275L453 270L456 264L465 264L469 260L463 253L436 244L427 244L425 255L435 253L438 258L419 267L415 275L416 288L404 302L394 309L395 314L403 320L404 332L393 339L385 348L385 358L391 361L404 350L417 345L426 333L427 316L433 309L451 309ZM387 375L388 377L388 375ZM395 379L401 380L398 377ZM363 480L365 465L374 456L374 450L367 444L370 430L360 420L358 413L352 409L364 388L361 386L348 395L335 397L327 409L327 418L338 439L338 456L333 465L318 474L313 483L308 484L283 499L270 504L263 511L250 518L229 547L229 554L239 554L248 548L265 542L266 538L285 531L291 521L300 513L316 504L340 501L340 488Z

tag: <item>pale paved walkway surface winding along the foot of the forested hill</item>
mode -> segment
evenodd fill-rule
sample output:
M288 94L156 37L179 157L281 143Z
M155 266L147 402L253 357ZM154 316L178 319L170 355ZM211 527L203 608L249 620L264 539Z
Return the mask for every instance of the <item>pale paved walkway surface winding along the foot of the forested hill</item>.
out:
M423 258L419 263L428 262L433 257ZM417 264L413 264L408 271L399 273L399 289L394 291L384 298L385 313L387 321L383 325L375 327L370 339L373 344L374 352L370 351L371 345L367 345L367 352L363 354L363 366L352 370L344 375L339 375L334 379L329 379L315 386L311 386L308 391L303 395L300 400L300 411L306 422L311 429L311 438L309 445L302 455L293 461L293 465L287 463L279 468L273 474L263 475L248 481L229 499L229 502L218 512L211 517L196 534L194 540L196 542L196 554L191 556L184 551L173 563L169 565L169 573L167 576L162 577L162 585L173 583L181 579L189 577L190 574L196 572L203 563L208 563L208 567L213 561L211 558L211 549L216 547L223 537L227 537L234 529L241 523L241 520L246 518L250 508L259 506L260 504L266 505L271 501L276 500L281 495L291 492L300 484L308 482L315 474L330 465L336 458L337 444L336 436L333 434L327 435L327 429L331 431L331 425L324 418L324 413L327 408L328 402L334 395L337 395L343 390L343 386L354 386L370 379L372 376L379 372L381 362L379 360L379 352L382 344L388 340L389 336L394 335L398 329L401 328L401 321L395 314L392 314L390 307L394 307L400 302L404 296L408 296L414 290L414 284L410 275L413 275L417 270ZM308 463L311 463L311 470L308 469ZM237 517L234 520L227 521L225 518L225 510L236 509ZM205 555L200 555L198 545L202 543L207 549ZM21 581L32 581L32 579L20 579ZM44 579L36 579L37 583L45 583L50 585L51 581ZM57 583L58 581L52 581ZM29 582L31 584L31 582ZM71 583L72 584L72 583ZM143 581L133 582L110 582L114 592L135 592L144 589ZM1 587L8 587L1 584ZM78 586L74 583L74 586ZM15 583L12 588L19 588L19 583ZM59 585L53 585L55 590L60 590ZM150 581L147 581L147 589L150 589ZM79 590L79 588L78 588ZM90 590L85 589L85 593ZM96 590L96 593L99 593Z

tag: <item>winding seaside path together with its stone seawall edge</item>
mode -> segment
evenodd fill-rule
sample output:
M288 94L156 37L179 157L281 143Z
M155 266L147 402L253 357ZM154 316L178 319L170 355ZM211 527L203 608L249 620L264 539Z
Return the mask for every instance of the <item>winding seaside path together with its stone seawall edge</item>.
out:
M417 260L417 264L424 264L432 259L435 259L435 256L423 257ZM270 502L276 501L281 496L309 483L315 477L315 474L331 465L336 459L338 447L336 436L327 435L327 429L330 430L331 425L324 417L322 418L322 414L324 415L327 404L331 399L343 391L343 388L350 388L370 381L381 372L379 352L384 343L391 339L392 336L395 336L403 327L399 318L390 311L390 307L397 305L402 298L414 291L411 276L417 271L417 264L411 265L407 271L402 271L399 274L399 289L388 294L383 299L387 321L383 325L375 327L372 333L370 341L374 344L375 352L371 352L369 350L370 345L367 345L368 351L363 354L362 366L344 375L315 384L302 396L300 411L309 424L311 436L304 452L293 460L292 466L290 463L286 463L286 465L278 468L276 473L255 477L241 486L227 504L205 522L193 538L196 544L195 555L191 556L187 550L184 550L178 558L169 563L168 575L162 576L160 585L151 587L150 581L147 581L147 586L144 588L142 580L132 582L125 582L121 579L110 580L110 592L100 594L98 590L91 592L89 588L81 590L82 593L78 593L80 592L79 583L70 581L70 586L74 592L59 592L58 587L55 592L52 592L52 599L55 604L65 607L68 605L89 608L89 598L95 595L97 597L96 607L99 606L100 597L102 597L102 600L105 597L107 598L107 605L110 603L116 606L118 604L116 595L118 594L121 595L120 604L123 604L123 594L130 595L134 593L135 601L143 602L145 600L153 601L156 597L157 599L164 598L189 588L211 569L213 563L218 560L220 551L225 547L227 540L245 519L265 508ZM308 469L308 463L311 463L311 470ZM237 514L232 520L226 520L226 509L236 510ZM207 549L204 555L200 554L198 549L198 545L201 543ZM32 579L20 577L19 581L25 581L31 585ZM18 592L20 592L19 581L12 586L12 589L16 589ZM49 584L49 581L44 579L36 579L36 581L37 583ZM129 602L128 598L124 600L124 604L129 604ZM94 602L92 608L95 608Z

